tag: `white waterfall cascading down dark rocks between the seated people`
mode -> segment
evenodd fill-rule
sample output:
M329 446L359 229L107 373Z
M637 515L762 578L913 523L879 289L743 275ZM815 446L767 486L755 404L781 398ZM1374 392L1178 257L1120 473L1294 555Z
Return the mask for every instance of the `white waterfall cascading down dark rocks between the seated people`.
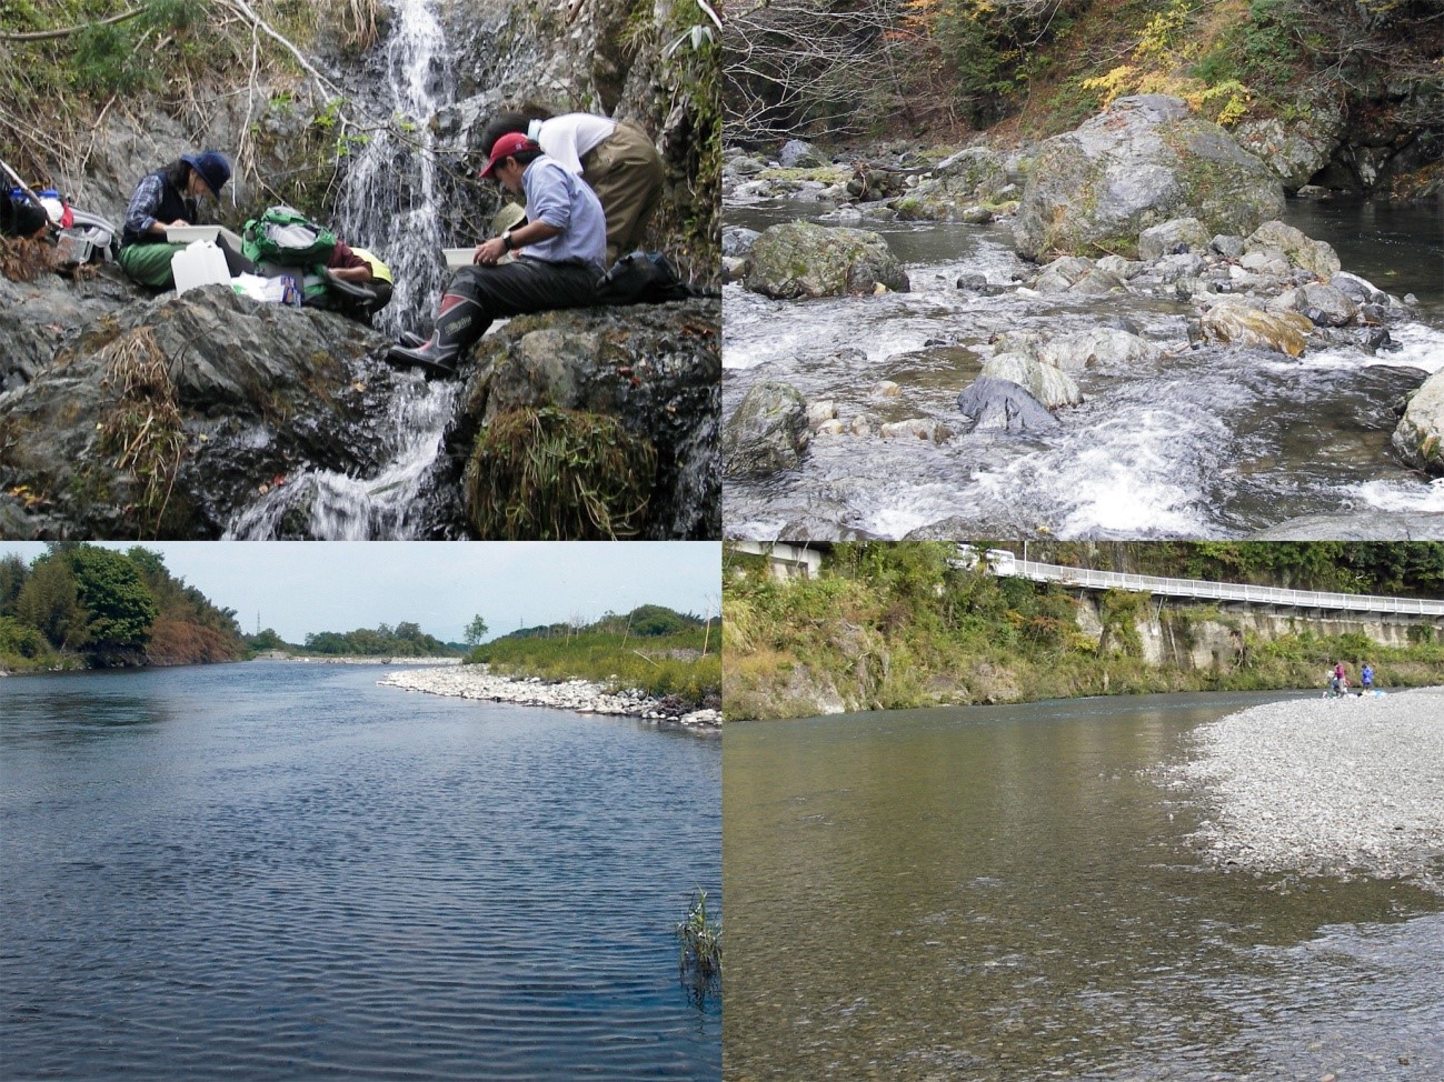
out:
M368 114L390 126L368 133L338 201L338 232L380 255L396 278L378 329L429 327L440 293L442 216L432 118L452 102L455 81L435 0L394 0L381 46L386 81ZM440 450L455 382L403 382L386 420L391 459L374 476L305 470L237 515L227 538L309 537L326 541L404 540L417 522L426 476Z

